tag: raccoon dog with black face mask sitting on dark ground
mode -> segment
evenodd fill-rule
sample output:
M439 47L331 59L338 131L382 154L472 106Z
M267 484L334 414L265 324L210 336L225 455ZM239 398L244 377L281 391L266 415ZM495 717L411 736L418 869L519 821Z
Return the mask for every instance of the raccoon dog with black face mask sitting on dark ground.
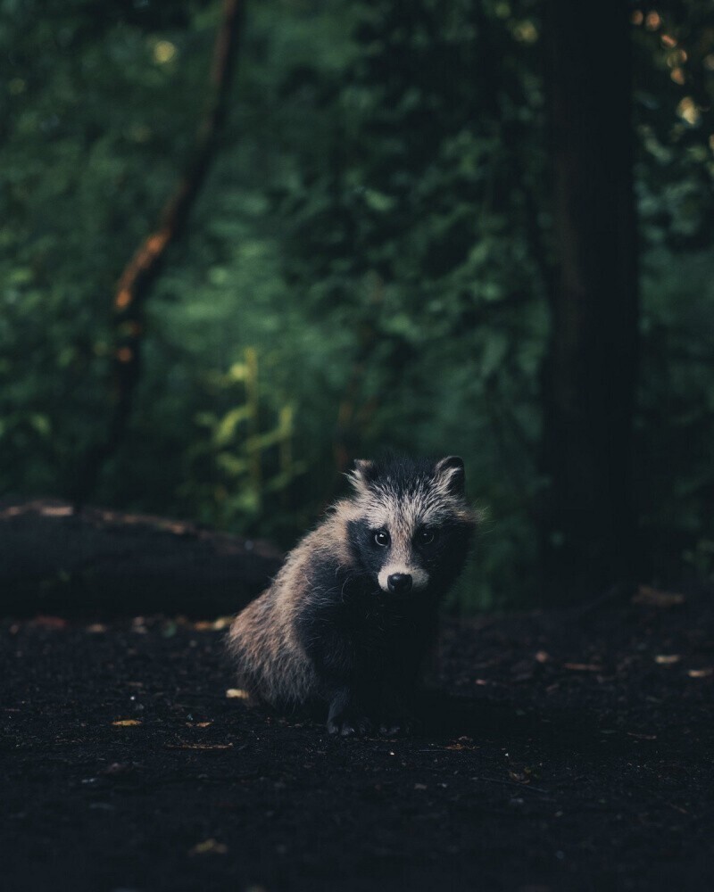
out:
M461 458L357 461L353 496L298 543L228 639L239 683L278 707L328 705L331 734L407 730L438 602L477 516Z

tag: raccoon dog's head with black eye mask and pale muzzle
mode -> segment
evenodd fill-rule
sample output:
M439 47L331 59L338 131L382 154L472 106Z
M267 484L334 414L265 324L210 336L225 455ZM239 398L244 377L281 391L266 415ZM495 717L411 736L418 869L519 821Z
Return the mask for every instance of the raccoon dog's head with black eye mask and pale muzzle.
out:
M451 584L474 523L463 497L461 458L362 461L353 484L359 517L349 532L361 570L395 597Z

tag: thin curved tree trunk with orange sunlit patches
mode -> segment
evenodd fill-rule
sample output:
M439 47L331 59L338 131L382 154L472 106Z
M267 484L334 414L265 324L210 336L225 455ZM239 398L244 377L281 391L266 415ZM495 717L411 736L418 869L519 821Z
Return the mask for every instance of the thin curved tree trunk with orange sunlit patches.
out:
M166 202L158 227L145 237L121 273L113 299L115 345L112 359L112 409L103 439L82 456L74 492L75 510L81 510L95 489L108 458L117 450L131 414L141 373L145 302L158 276L170 244L181 235L188 215L211 168L220 129L228 111L237 47L243 23L241 0L223 0L220 25L213 48L209 97L199 125L194 153L179 183Z

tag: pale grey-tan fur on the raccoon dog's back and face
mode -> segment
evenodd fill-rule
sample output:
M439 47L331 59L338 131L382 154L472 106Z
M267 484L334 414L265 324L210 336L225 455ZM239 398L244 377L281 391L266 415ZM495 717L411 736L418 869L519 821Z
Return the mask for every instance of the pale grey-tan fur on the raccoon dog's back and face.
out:
M462 494L462 470L452 467L452 458L436 463L430 479L416 480L405 497L390 480L369 481L371 463L355 463L349 479L352 498L338 501L320 525L300 541L270 588L239 613L228 636L229 652L237 665L238 683L253 698L276 705L297 705L325 697L320 681L297 634L297 619L304 607L315 607L320 599L339 597L336 591L321 591L316 567L334 568L334 574L351 569L353 557L348 524L361 521L370 528L388 528L392 544L389 563L378 574L379 587L386 591L386 576L408 573L414 589L428 585L428 574L412 555L411 539L418 524L438 525L447 519L475 524L477 516ZM461 478L459 474L461 473Z

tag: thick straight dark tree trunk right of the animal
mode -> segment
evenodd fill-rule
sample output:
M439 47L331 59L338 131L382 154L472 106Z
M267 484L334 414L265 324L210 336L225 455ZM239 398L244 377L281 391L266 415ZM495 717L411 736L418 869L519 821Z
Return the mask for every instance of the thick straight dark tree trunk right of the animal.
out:
M546 0L557 274L544 366L544 582L578 599L635 555L637 260L628 7Z

